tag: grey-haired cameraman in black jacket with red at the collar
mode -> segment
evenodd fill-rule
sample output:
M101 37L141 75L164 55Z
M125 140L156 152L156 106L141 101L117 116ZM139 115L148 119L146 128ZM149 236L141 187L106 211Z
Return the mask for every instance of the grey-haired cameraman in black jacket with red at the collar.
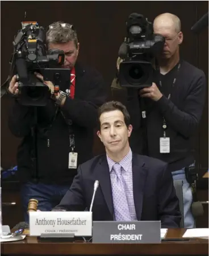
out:
M36 156L32 153L34 107L18 102L16 76L11 79L9 86L9 92L16 95L9 117L9 128L15 136L23 137L18 148L17 162L26 222L30 198L39 201L38 209L51 210L72 184L77 166L93 157L97 108L106 100L102 75L94 68L77 62L80 44L72 25L63 22L50 25L47 44L49 49L64 51L65 62L62 68L71 69L71 83L68 87L61 85L55 99L50 98L47 105L37 107ZM44 82L42 75L36 76ZM44 83L53 94L53 84Z

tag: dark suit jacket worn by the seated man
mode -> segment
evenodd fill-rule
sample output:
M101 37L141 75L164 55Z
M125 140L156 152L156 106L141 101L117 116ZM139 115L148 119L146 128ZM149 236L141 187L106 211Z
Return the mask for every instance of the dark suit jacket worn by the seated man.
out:
M179 227L181 213L172 173L167 164L133 154L133 197L139 221L161 221L161 227ZM94 157L78 167L73 184L56 208L70 211L90 209L94 182L99 181L93 204L93 221L113 221L114 207L106 155Z

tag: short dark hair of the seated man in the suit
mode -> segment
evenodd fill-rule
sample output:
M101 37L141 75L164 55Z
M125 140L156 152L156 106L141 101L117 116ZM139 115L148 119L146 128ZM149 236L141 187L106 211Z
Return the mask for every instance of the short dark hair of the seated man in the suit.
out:
M125 121L126 126L128 127L128 125L130 125L130 115L127 111L126 106L124 106L119 101L108 101L108 102L104 103L103 105L101 105L101 107L98 110L99 128L100 128L100 125L101 125L99 119L100 119L102 113L110 112L110 111L114 111L114 110L121 111L123 113L124 121Z

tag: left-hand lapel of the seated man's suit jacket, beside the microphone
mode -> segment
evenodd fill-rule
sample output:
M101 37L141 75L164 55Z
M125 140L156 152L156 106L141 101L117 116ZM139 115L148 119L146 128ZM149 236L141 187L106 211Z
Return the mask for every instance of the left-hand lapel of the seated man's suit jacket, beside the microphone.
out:
M112 188L111 188L111 180L110 180L110 171L107 164L106 157L103 157L101 161L98 163L98 172L97 177L99 180L99 185L101 186L103 196L105 197L105 201L107 203L108 209L112 215L114 216L113 210L113 202L112 202Z

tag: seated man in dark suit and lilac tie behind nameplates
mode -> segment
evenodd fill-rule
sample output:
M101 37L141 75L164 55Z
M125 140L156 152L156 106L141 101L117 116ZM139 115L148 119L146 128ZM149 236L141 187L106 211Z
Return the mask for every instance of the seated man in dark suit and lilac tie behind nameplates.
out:
M89 210L94 182L98 180L93 221L160 220L162 227L179 227L181 213L172 173L161 160L132 154L129 120L122 103L110 101L99 108L97 134L105 145L106 155L79 166L72 186L54 209Z

